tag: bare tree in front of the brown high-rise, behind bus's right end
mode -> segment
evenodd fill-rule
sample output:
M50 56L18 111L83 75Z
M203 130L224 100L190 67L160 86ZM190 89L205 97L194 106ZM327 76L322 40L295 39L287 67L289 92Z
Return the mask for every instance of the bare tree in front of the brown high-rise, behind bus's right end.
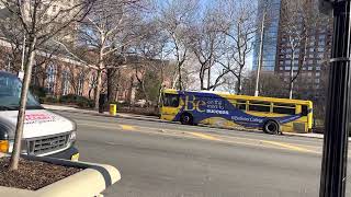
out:
M284 0L281 11L281 30L286 42L285 53L290 56L288 97L293 99L294 82L306 63L307 48L313 30L320 20L315 1ZM314 46L313 46L314 47Z

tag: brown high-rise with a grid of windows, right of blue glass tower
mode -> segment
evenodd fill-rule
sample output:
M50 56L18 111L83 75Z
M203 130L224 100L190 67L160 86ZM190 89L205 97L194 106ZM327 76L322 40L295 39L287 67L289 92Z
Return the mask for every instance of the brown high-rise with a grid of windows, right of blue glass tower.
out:
M285 1L282 0L282 3ZM275 73L288 83L293 69L293 77L297 76L294 90L309 93L313 91L316 95L321 92L320 89L325 89L321 83L331 50L332 21L328 16L309 14L316 8L317 1L305 1L306 14L296 14L305 19L292 19L293 13L285 13L288 12L286 7L281 9ZM302 97L306 99L305 96L308 97Z

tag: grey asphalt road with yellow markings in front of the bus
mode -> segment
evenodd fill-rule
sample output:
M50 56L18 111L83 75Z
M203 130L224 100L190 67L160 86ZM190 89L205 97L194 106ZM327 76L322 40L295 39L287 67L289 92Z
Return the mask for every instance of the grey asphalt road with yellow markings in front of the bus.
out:
M80 160L121 171L106 197L318 196L320 139L61 114L78 124Z

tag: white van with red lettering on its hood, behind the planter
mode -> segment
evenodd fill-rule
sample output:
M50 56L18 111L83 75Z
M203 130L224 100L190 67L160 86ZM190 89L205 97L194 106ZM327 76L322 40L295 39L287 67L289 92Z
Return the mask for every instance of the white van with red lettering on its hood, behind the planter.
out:
M0 71L0 152L12 152L21 86L16 76ZM43 108L31 93L26 105L22 153L78 160L76 124Z

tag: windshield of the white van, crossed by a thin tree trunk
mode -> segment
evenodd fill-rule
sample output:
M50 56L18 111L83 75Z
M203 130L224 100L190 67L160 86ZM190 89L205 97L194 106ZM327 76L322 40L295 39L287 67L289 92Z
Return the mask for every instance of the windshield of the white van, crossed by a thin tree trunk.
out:
M0 72L0 111L18 111L22 82L13 74ZM27 109L41 109L41 104L29 93Z

